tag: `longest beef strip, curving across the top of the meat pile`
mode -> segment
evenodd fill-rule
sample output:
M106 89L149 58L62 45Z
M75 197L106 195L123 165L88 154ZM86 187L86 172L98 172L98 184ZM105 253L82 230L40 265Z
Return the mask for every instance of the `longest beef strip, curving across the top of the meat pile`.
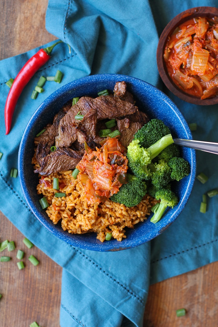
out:
M92 110L92 111L91 111ZM138 108L133 106L131 103L120 100L119 97L113 97L110 95L102 95L97 98L91 98L83 96L79 101L67 112L67 114L60 120L59 123L59 135L56 137L56 146L57 147L68 147L74 143L78 137L77 131L79 133L79 140L82 140L85 137L84 132L86 133L86 127L83 125L83 128L80 129L81 121L75 121L75 115L80 111L80 114L86 115L91 111L89 121L93 121L94 114L97 112L97 119L112 119L119 116L124 116L126 114L132 114L136 112ZM91 118L91 116L93 117ZM88 117L88 116L87 116ZM85 118L85 117L84 117ZM83 119L84 119L83 118ZM87 121L88 121L87 120ZM85 124L84 119L84 124ZM83 123L82 123L83 124ZM82 126L82 125L81 125ZM89 126L90 128L90 126ZM85 129L85 130L84 130ZM94 130L96 132L96 124L92 128L92 132L89 137L93 137ZM100 142L99 137L96 135L93 139L96 143Z

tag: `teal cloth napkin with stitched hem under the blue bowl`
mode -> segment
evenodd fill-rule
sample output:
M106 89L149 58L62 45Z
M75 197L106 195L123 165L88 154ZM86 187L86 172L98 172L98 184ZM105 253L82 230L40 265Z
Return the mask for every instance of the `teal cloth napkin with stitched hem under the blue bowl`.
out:
M0 62L0 151L4 153L0 180L7 199L0 201L0 210L63 267L61 327L142 326L149 283L218 259L218 197L210 199L206 214L199 213L202 194L218 186L218 157L197 152L197 172L203 171L210 179L204 185L195 182L184 211L164 233L134 249L92 252L74 248L47 231L27 206L18 178L10 178L11 167L17 168L25 126L40 103L60 86L89 74L120 73L158 86L173 99L188 123L197 123L194 139L216 142L217 105L195 106L178 99L160 81L156 64L159 35L175 15L196 6L216 5L216 0L49 0L46 28L69 43L73 51L69 55L67 46L59 44L31 79L18 101L9 135L4 128L5 83L16 77L39 48ZM39 77L54 76L57 69L64 73L61 83L46 82L44 92L32 100Z

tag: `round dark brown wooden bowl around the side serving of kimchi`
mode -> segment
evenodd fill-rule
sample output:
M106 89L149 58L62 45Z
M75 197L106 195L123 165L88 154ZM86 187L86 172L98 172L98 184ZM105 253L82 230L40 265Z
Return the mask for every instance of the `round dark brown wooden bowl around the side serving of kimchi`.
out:
M157 49L157 64L160 77L162 81L167 86L167 88L180 99L194 103L197 105L211 105L218 103L218 96L214 96L212 98L207 98L201 100L193 95L189 95L179 89L176 84L174 84L173 80L168 74L166 64L163 58L164 49L167 43L168 36L172 34L177 26L183 24L185 21L192 19L194 17L214 17L218 16L218 8L214 7L195 7L188 10L185 10L174 17L164 28L162 34L160 35L158 49Z

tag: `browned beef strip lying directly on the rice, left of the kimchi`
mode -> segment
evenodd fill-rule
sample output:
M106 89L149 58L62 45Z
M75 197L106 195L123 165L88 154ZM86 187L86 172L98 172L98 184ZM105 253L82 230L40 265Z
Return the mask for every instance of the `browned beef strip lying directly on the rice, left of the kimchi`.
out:
M41 175L50 175L59 171L66 171L75 168L82 159L84 150L75 151L70 148L58 149L51 152L40 160L40 168L34 170L34 173Z

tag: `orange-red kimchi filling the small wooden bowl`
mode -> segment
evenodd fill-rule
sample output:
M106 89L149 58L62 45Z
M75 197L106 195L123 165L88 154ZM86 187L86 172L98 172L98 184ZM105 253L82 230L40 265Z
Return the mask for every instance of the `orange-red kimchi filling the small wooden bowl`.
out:
M176 27L164 60L183 92L201 99L218 95L218 17L196 17Z

